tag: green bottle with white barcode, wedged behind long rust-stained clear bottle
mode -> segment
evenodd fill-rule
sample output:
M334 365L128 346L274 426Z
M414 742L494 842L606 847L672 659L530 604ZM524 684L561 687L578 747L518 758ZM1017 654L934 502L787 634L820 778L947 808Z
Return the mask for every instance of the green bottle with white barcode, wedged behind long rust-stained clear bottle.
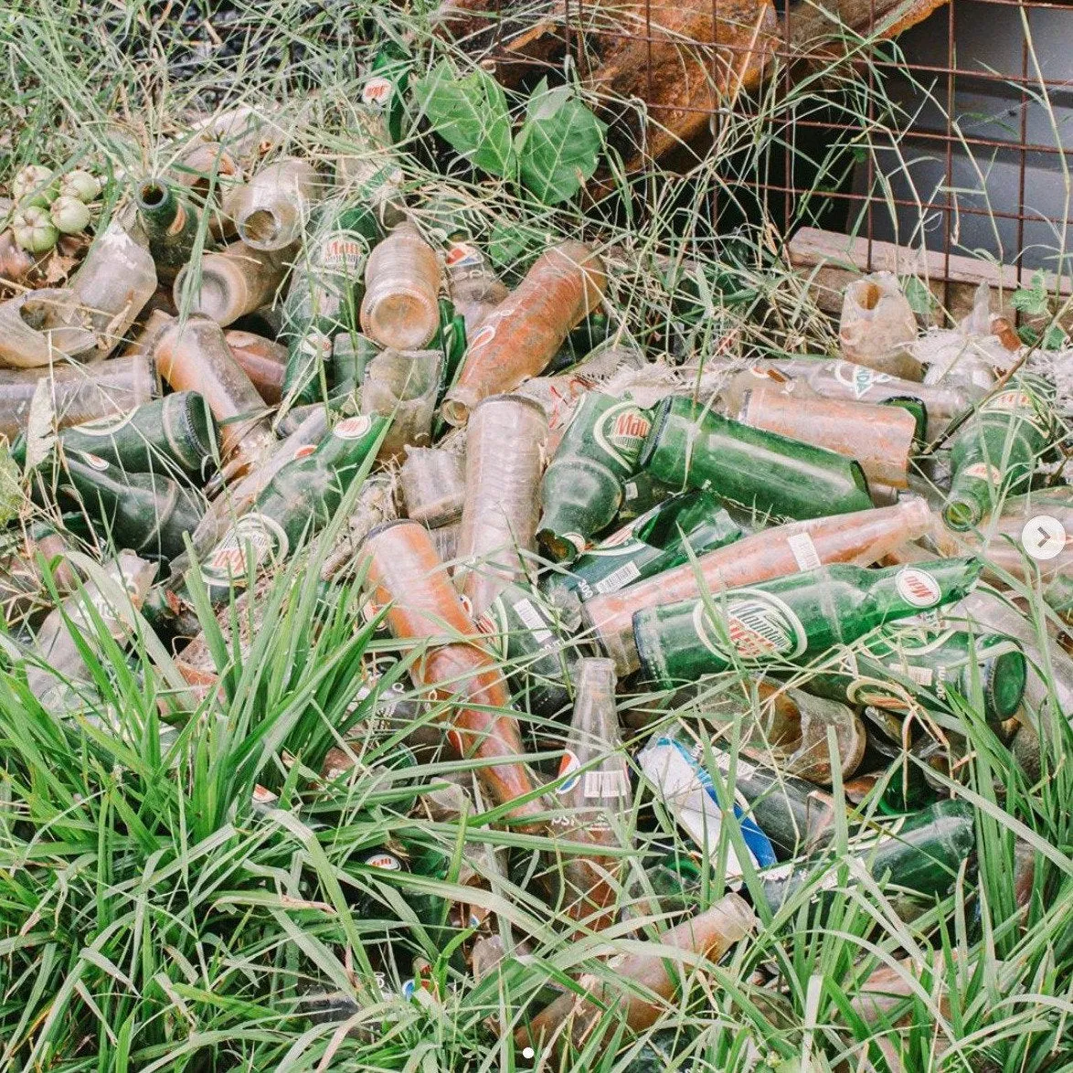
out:
M542 587L557 606L617 592L694 555L733 544L741 527L708 491L689 491L653 506L575 559L569 570L545 575Z

